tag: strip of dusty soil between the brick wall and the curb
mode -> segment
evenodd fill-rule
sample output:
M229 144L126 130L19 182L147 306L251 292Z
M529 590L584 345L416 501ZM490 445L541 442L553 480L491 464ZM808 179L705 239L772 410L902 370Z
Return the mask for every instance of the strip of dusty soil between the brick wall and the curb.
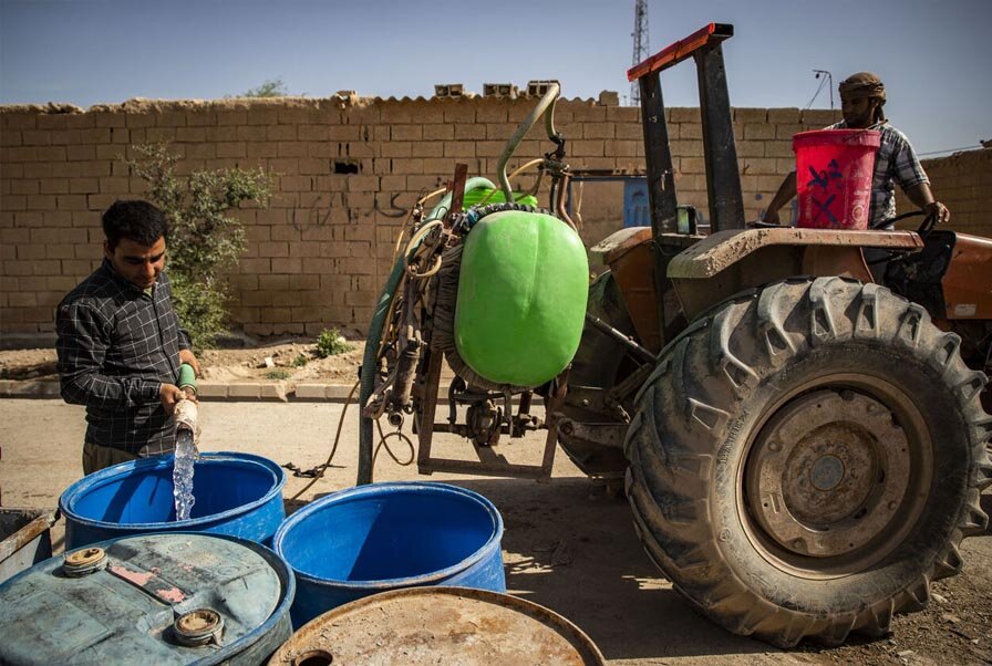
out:
M351 351L320 358L312 342L287 342L238 350L206 350L198 354L204 379L245 382L333 383L358 381L364 341L349 341ZM55 350L0 351L0 379L58 379Z

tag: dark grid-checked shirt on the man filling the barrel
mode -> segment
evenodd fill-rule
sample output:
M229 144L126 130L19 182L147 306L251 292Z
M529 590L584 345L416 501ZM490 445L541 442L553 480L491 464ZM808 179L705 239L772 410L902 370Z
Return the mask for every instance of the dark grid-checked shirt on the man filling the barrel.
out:
M175 384L179 350L189 347L164 272L149 291L104 259L55 314L62 397L86 406L86 441L138 456L175 448L174 419L158 391Z

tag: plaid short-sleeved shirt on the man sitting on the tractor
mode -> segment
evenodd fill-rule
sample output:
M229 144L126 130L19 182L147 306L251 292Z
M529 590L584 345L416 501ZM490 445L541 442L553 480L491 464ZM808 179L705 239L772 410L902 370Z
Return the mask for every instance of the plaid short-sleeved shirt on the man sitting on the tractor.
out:
M847 124L840 121L827 129L847 129ZM930 184L906 135L888 124L877 129L881 133L881 145L875 155L869 227L896 217L896 183L902 191L920 183Z

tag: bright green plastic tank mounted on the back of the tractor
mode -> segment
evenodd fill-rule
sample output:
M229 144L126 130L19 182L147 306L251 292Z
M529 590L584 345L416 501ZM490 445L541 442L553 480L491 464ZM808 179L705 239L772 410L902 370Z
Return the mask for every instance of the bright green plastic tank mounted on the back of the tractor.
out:
M490 214L462 254L458 354L490 382L544 384L579 346L588 293L586 249L565 222L540 212Z

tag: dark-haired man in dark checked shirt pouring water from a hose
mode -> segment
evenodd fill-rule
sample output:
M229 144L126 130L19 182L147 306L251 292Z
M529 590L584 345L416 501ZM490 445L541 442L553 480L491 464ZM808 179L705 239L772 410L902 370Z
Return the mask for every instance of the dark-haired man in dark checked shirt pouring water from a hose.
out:
M59 375L66 403L86 406L83 471L170 452L179 364L199 371L173 310L168 225L146 201L103 215L103 264L59 304ZM193 398L194 396L189 396Z

